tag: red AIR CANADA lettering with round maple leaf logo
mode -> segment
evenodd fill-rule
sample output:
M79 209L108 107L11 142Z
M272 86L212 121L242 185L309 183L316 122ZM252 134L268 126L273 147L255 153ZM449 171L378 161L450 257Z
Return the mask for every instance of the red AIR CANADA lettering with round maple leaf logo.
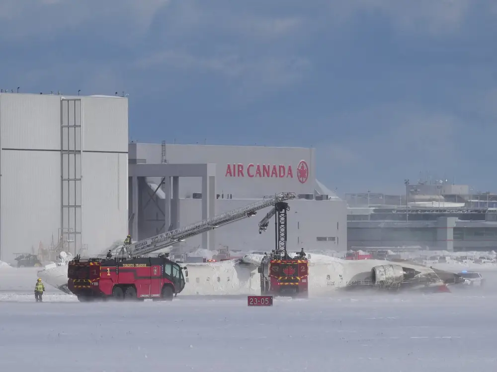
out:
M225 177L248 177L248 178L293 178L291 165L253 164L228 164ZM301 160L297 166L297 180L305 184L309 178L309 167L305 160Z

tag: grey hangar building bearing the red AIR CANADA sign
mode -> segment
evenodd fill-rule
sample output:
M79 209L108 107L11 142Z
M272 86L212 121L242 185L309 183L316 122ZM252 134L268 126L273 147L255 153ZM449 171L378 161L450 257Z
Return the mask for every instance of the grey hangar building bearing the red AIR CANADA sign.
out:
M289 202L289 249L346 250L347 206L316 179L315 157L313 148L131 143L129 231L142 240L289 191L298 195ZM274 229L257 228L268 211L185 244L270 250Z

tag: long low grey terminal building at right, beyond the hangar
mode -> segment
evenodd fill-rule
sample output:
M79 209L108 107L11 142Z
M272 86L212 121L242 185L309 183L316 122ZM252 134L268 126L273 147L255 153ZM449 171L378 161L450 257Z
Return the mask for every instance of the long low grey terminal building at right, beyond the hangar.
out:
M497 250L497 195L443 181L406 185L404 195L347 194L349 249L417 246Z

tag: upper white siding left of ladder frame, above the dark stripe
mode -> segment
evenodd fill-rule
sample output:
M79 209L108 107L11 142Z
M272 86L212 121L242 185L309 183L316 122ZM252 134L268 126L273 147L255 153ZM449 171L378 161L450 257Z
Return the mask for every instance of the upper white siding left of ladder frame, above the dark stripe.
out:
M3 93L3 148L60 150L60 96Z

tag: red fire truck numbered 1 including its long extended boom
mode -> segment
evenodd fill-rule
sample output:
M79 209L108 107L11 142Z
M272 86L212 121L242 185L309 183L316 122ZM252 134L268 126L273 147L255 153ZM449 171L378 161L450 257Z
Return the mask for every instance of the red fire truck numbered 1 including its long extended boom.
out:
M183 290L188 271L170 260L168 253L154 257L150 256L151 253L171 248L186 238L240 221L260 209L293 198L294 193L281 192L189 226L124 245L119 252L109 251L106 256L89 258L78 255L68 265L68 289L80 301L172 300Z

